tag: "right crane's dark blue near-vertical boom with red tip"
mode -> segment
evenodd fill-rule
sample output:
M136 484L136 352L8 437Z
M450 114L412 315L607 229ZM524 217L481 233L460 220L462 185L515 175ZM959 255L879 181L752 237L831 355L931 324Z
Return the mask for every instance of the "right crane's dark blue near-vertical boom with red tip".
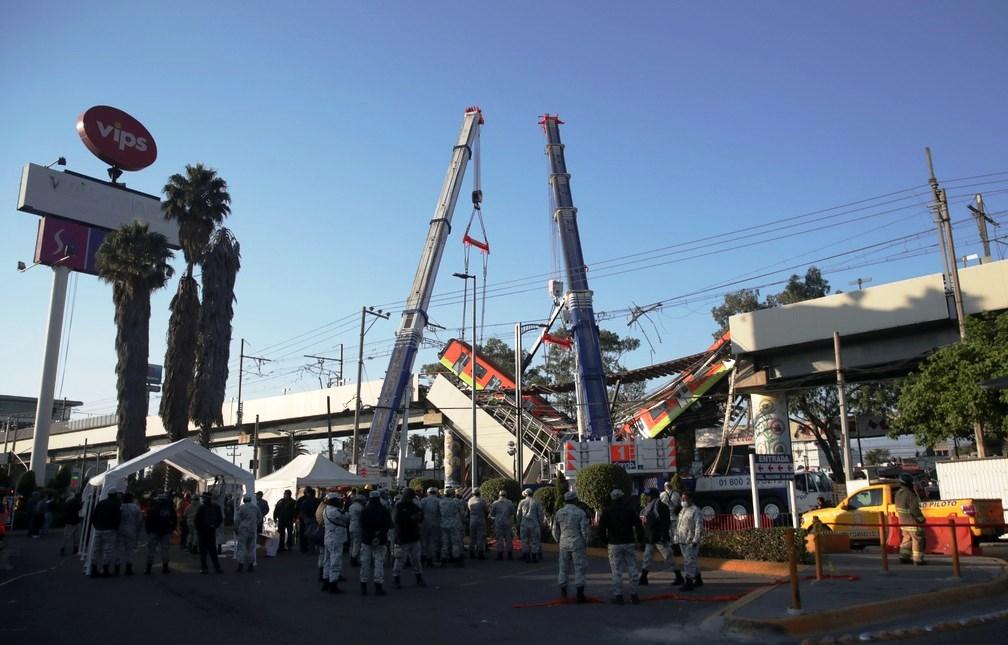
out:
M602 366L602 347L599 327L595 320L592 291L588 288L588 269L581 250L578 233L578 209L571 197L571 174L563 159L559 126L563 123L556 115L544 115L539 120L546 133L546 156L549 158L549 184L553 197L553 220L559 233L566 273L568 292L564 295L571 317L575 357L578 370L575 387L578 393L578 430L588 438L610 437L613 420L609 414L609 396L606 392L606 375Z

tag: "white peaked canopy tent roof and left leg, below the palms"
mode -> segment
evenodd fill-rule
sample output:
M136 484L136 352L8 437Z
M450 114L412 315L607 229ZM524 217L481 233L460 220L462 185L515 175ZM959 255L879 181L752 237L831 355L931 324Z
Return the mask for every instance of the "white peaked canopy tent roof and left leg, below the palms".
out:
M214 482L234 488L240 487L245 495L252 495L255 491L255 477L252 473L211 453L192 439L179 439L174 443L151 448L128 462L123 462L88 480L88 486L84 490L84 526L87 530L81 534L81 554L85 560L85 571L91 570L90 546L94 534L94 529L91 527L91 512L95 505L99 500L108 497L110 492L125 491L126 480L131 475L161 462L205 484Z

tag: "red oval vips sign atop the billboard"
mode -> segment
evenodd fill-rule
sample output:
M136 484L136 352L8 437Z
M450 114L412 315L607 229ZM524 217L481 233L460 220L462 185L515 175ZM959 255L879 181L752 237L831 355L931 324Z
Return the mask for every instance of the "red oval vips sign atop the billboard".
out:
M117 108L91 108L77 118L77 133L96 157L123 170L146 168L157 158L147 128Z

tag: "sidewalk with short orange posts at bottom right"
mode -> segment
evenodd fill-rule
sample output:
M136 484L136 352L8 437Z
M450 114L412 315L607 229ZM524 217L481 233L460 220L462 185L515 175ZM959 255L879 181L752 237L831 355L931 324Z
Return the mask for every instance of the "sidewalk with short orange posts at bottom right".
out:
M726 608L718 620L729 631L797 636L857 629L1008 591L1006 563L995 557L961 558L956 578L951 557L930 556L925 566L890 557L886 573L877 551L838 553L826 557L823 573L815 580L814 567L799 568L800 611L791 609L785 576Z

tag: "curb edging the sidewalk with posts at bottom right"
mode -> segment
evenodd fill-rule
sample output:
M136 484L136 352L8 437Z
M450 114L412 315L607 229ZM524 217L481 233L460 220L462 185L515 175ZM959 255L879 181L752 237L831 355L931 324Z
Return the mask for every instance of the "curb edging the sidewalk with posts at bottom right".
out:
M891 601L853 605L828 612L763 620L734 616L738 609L768 594L772 589L772 587L767 587L757 590L728 606L721 612L725 629L735 632L791 636L838 629L849 630L852 626L871 625L883 620L910 616L919 613L921 607L952 605L1008 591L1008 573L1002 572L1000 576L988 583L904 596ZM853 638L854 640L859 639L859 637Z

